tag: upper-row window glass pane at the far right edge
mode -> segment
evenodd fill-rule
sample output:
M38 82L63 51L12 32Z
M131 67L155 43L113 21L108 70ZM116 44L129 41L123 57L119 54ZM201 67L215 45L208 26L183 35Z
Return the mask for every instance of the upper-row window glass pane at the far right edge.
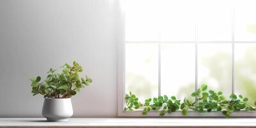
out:
M236 1L235 4L235 40L256 41L256 1Z

